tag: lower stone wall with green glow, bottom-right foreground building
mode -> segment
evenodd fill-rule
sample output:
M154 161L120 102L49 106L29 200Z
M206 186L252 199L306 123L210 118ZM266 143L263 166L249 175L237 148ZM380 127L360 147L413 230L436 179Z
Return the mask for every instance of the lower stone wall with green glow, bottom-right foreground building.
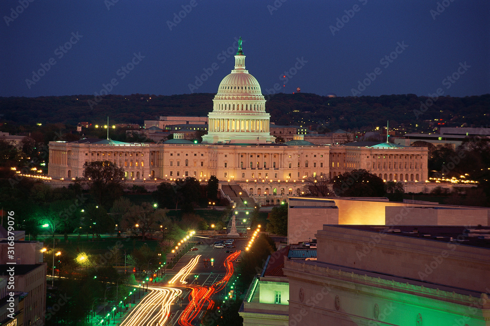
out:
M482 301L469 295L322 264L286 261L284 273L290 280L290 326L488 325L483 314L490 302L482 309Z

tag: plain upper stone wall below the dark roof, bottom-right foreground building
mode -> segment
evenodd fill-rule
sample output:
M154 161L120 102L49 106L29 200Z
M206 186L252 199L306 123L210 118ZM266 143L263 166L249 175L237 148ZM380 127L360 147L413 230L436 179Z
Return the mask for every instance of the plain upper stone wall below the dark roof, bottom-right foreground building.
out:
M489 249L324 225L317 260L486 292Z

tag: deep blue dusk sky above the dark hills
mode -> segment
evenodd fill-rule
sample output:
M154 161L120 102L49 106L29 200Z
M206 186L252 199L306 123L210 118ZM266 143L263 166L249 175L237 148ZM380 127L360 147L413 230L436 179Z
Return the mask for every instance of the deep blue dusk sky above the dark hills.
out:
M216 93L240 36L264 94L490 92L489 0L112 1L2 0L0 96Z

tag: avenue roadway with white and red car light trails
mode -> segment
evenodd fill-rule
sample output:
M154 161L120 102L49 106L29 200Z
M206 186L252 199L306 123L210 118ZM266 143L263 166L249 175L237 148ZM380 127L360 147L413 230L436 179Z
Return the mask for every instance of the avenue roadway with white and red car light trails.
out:
M234 261L247 243L246 239L237 239L236 248L214 248L214 240L196 238L195 241L204 243L196 245L198 250L184 255L172 271L167 270L166 282L148 286L147 297L121 325L199 325L206 309L213 307L215 302L222 302L229 292L228 281L234 272ZM233 253L225 253L225 250L233 250Z

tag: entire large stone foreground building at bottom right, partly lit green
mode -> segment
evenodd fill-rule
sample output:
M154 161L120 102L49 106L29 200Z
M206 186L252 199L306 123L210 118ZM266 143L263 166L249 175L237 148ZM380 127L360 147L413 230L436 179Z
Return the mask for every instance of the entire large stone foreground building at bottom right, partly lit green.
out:
M285 261L289 325L488 326L489 231L324 225L317 261Z

